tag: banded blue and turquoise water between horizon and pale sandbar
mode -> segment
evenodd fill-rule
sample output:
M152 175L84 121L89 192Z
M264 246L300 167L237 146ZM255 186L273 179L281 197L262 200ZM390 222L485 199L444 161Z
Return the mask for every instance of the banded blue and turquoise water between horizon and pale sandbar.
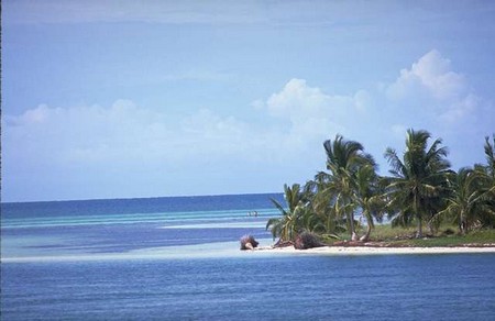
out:
M270 237L280 195L2 204L2 258L129 254ZM249 215L250 212L257 215Z

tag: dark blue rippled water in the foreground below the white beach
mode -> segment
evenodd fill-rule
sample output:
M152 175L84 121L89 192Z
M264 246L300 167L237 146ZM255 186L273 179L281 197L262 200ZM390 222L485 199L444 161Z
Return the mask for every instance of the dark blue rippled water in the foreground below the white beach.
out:
M495 256L2 265L3 320L493 320Z

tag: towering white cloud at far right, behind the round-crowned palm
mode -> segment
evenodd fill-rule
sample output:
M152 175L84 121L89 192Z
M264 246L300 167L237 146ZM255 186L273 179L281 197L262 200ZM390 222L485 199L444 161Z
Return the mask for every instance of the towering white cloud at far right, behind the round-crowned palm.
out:
M391 146L402 150L407 129L424 129L443 139L454 168L482 162L483 136L493 132L493 103L479 97L468 77L438 51L400 70L380 95L387 128L383 134Z

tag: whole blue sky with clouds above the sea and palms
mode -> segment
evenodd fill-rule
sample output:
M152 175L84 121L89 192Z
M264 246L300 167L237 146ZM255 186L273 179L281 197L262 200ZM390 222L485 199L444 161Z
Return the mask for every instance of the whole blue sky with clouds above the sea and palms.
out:
M278 192L407 129L484 163L494 1L4 0L3 202Z

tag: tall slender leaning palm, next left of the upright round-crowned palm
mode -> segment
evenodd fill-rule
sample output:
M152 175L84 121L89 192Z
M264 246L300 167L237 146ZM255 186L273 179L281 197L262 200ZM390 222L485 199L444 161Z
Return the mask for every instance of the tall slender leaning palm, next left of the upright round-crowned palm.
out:
M355 174L361 166L374 164L371 155L365 154L363 145L354 141L344 141L336 135L333 141L323 143L327 153L327 169L331 176L323 195L334 198L337 213L345 217L351 240L356 241L353 202L355 193Z

